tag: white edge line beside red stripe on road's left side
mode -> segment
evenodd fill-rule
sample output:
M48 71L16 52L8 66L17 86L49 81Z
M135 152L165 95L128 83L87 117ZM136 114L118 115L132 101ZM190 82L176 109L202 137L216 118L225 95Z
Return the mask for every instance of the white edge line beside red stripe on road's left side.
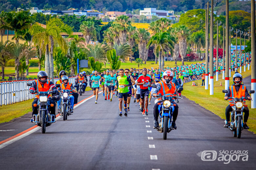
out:
M102 92L99 92L99 93L102 93ZM83 104L84 102L88 101L89 99L93 98L93 97L94 97L94 95L93 95L92 97L90 97L90 98L88 98L88 99L82 101L81 103L75 105L75 106L74 106L74 109L77 108L78 106L80 106L81 104ZM58 119L60 119L60 118L61 118L61 116L58 116L58 117L55 119L55 121L58 120ZM30 135L31 133L34 133L35 131L37 131L37 130L39 130L39 129L41 129L41 127L35 127L35 128L33 128L32 130L30 130L30 131L28 131L28 132L26 132L26 133L24 133L24 134L22 134L22 135L20 135L20 136L18 136L18 137L16 137L16 138L11 139L10 141L7 141L7 142L5 142L5 143L3 143L3 144L0 144L0 149L2 149L3 147L8 146L9 144L12 144L13 142L16 142L16 141L18 141L18 140L20 140L20 139L22 139L22 138L24 138L24 137Z

